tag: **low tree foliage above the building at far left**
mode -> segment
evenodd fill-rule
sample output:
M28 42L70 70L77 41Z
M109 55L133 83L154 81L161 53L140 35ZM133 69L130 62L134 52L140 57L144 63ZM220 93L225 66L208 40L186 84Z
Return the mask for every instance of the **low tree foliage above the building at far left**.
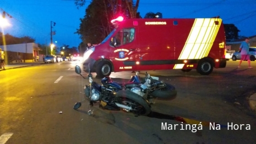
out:
M19 43L30 43L30 42L35 42L35 39L29 36L15 37L9 34L3 35L3 33L0 32L0 45L15 45Z

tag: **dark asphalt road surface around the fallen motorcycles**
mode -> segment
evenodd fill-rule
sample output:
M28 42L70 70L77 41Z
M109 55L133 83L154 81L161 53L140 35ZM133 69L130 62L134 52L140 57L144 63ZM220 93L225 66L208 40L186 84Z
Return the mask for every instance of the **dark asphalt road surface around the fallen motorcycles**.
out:
M97 104L94 114L88 115L88 102L74 110L74 103L84 99L83 87L88 83L75 74L75 65L81 66L63 62L1 71L1 144L256 143L255 113L249 110L246 99L256 90L256 62L252 62L254 69L247 69L245 62L238 69L238 61L230 61L225 69L214 69L209 76L195 70L149 71L175 85L178 95L169 101L156 99L148 117L102 110ZM145 71L140 73L143 76ZM111 77L126 82L132 74L112 73ZM94 80L100 82L95 74ZM192 124L200 121L203 126L195 132L173 120L175 117L187 118ZM209 122L220 125L213 130ZM165 124L169 130L162 130ZM231 124L233 130L227 127Z

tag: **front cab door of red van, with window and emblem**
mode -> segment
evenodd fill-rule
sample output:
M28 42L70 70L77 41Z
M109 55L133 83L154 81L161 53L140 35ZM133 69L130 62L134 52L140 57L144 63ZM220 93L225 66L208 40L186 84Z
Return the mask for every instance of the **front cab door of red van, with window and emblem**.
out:
M110 53L115 71L138 70L138 45L134 36L133 27L121 29L113 36Z

